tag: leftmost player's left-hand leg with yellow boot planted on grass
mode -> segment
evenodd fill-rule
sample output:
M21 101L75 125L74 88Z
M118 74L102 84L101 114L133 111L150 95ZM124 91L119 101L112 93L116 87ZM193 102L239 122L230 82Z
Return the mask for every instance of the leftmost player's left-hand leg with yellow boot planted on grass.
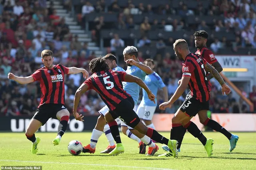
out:
M26 130L26 137L28 140L32 142L32 148L31 148L32 154L36 154L36 152L38 151L38 144L40 142L40 138L35 136L35 132L41 126L42 126L42 123L40 121L32 118Z

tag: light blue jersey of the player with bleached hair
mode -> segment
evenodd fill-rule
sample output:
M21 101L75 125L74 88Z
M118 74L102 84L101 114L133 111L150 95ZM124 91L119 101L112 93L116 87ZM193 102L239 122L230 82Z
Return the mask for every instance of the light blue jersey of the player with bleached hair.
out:
M134 65L128 66L125 72L127 74L130 74L142 79L142 81L144 81L146 77L146 73ZM132 96L132 99L134 100L134 105L136 106L138 103L139 95L140 95L140 86L136 83L130 83L130 82L124 82L124 81L122 83L123 83L124 90Z

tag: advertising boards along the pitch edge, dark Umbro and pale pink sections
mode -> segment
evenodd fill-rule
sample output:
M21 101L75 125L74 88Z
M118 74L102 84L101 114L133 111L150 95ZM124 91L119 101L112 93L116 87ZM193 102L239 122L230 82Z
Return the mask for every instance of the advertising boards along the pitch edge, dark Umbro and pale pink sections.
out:
M153 123L158 131L170 132L172 128L172 117L174 114L154 114ZM92 130L97 122L98 116L84 117L84 122L76 121L74 117L70 117L68 122L68 131L82 132L85 130ZM31 117L0 117L0 131L2 132L25 132ZM229 131L236 132L256 132L256 114L212 114L212 119L220 123L222 127ZM198 116L191 119L200 130L204 128L199 121ZM56 119L49 119L49 121L42 126L39 132L57 132L59 121ZM120 121L118 122L120 125Z

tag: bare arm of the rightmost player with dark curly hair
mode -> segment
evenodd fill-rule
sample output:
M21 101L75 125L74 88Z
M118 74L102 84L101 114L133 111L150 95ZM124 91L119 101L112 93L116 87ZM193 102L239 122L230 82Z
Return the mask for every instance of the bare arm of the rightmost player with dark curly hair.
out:
M204 68L206 71L212 73L213 77L220 83L222 88L222 94L224 95L224 93L226 93L226 95L228 95L231 92L231 89L228 87L228 85L226 85L220 73L207 62L204 64Z

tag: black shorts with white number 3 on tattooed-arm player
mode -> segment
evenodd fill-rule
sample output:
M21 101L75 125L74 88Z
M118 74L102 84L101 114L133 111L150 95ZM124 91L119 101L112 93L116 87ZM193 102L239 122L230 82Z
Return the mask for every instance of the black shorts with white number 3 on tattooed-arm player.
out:
M186 100L180 106L182 112L186 112L189 117L194 117L201 110L209 110L209 101L200 102L191 95L186 96Z

